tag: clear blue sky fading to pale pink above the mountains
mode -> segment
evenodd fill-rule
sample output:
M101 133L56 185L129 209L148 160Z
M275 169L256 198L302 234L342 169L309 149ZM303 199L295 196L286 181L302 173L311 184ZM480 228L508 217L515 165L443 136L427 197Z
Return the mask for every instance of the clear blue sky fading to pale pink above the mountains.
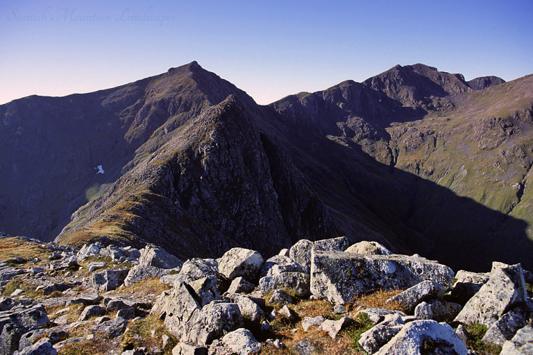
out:
M126 84L197 60L255 98L421 62L533 73L533 1L0 1L0 103Z

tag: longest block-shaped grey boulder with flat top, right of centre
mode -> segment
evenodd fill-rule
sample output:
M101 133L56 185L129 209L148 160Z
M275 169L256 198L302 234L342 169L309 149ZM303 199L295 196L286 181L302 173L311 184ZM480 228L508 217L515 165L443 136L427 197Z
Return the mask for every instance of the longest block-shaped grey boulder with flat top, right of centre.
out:
M311 293L335 304L371 291L409 288L423 281L448 286L448 266L421 257L312 250Z

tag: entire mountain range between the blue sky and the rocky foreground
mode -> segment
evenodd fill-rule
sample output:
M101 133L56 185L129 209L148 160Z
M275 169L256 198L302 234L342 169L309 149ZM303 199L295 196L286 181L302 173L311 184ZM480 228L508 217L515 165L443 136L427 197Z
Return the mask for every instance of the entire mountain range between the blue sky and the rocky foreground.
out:
M456 270L533 268L533 76L397 65L257 105L192 62L0 118L10 234L179 257L346 235Z

